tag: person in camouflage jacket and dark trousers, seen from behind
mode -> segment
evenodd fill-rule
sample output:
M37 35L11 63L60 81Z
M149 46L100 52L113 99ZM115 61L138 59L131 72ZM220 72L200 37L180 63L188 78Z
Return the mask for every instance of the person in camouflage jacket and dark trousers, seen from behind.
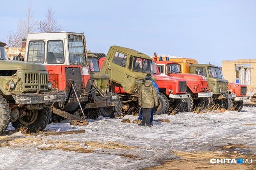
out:
M142 107L142 122L139 126L149 126L151 110L158 105L157 92L151 82L151 75L146 75L145 82L139 91L139 105Z

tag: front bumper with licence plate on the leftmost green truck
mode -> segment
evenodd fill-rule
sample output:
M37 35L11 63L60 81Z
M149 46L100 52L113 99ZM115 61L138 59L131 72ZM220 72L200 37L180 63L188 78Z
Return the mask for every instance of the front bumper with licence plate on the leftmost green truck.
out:
M66 93L25 93L12 95L16 104L40 104L40 103L55 103L55 102L65 102Z

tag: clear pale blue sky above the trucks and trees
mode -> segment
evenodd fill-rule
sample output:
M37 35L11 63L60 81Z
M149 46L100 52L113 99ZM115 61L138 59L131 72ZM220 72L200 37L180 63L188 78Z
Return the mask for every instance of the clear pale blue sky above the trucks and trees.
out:
M0 41L16 31L28 0L1 1ZM32 0L35 18L49 5L64 31L83 32L87 50L110 46L221 66L256 58L256 0Z

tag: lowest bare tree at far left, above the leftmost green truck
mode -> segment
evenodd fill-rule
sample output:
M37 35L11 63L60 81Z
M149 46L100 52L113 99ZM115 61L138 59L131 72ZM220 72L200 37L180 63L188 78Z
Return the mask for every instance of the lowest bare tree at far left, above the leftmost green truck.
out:
M21 34L18 30L16 32L10 31L5 35L4 42L7 47L21 47L22 46Z

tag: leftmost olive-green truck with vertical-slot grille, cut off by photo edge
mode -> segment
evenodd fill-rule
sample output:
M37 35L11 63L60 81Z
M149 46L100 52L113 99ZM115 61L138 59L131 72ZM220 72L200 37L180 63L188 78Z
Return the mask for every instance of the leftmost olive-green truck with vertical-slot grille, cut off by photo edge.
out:
M51 118L50 106L63 105L66 93L52 92L43 65L10 61L5 45L0 42L0 133L10 121L15 129L23 125L30 132L43 130Z

